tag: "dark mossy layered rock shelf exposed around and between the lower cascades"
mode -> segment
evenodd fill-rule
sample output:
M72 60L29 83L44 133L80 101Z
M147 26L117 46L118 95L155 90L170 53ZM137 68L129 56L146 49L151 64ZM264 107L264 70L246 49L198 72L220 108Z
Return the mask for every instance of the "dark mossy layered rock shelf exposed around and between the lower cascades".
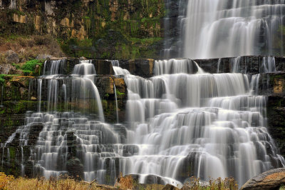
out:
M267 59L267 57L266 57ZM281 155L285 156L284 147L284 115L285 115L285 72L284 64L285 58L274 57L276 64L276 71L270 73L262 73L258 80L257 95L263 95L267 97L267 121L269 134L274 138L278 148L281 150ZM46 61L46 66L49 62L54 60ZM198 66L204 71L215 74L215 73L227 73L237 68L237 72L242 72L252 76L253 74L259 74L264 69L264 57L263 56L243 56L239 58L222 58L222 59L204 59L194 60ZM76 64L80 63L80 59L64 59L63 60L63 77L62 80L58 81L58 85L68 85L72 82L71 75L73 74L73 68ZM123 76L115 76L113 65L111 61L94 59L90 61L95 67L96 77L94 84L98 88L100 99L102 100L103 112L105 115L105 121L110 124L116 123L116 106L115 106L115 92L117 92L118 98L118 120L120 123L125 122L125 104L128 99L128 89L125 84ZM130 74L150 79L155 76L155 64L154 59L132 59L132 60L121 60L120 67L128 69ZM189 64L192 64L189 60ZM235 65L234 65L235 64ZM219 69L217 69L219 68ZM41 74L44 74L44 68ZM191 72L197 72L197 66L193 64ZM38 104L41 104L41 108L45 110L48 107L48 81L52 79L42 79L42 96L41 102L38 101L38 76L5 76L5 82L2 85L1 93L1 107L0 107L0 140L4 144L11 136L18 126L25 124L24 118L29 111L38 111ZM58 96L58 102L63 101L63 96ZM61 112L66 107L72 111L83 112L88 109L89 105L82 104L83 106L73 105L61 105L58 104L57 111ZM90 109L92 109L90 107ZM126 124L126 123L125 123ZM128 124L126 124L128 125ZM31 155L33 154L32 148L36 145L38 134L43 130L43 125L35 123L31 127L31 133L29 134L29 140L27 146L19 146L19 136L15 137L15 140L9 144L8 147L2 149L0 154L0 160L2 161L1 170L7 174L14 174L15 176L21 175L21 166L25 164L25 174L27 176L34 176L36 171L33 171L34 165L31 161ZM113 129L117 134L120 134L120 141L125 142L125 136L127 130L125 126L114 125ZM75 141L75 134L68 134L68 142L73 144ZM83 177L83 166L82 163L76 159L76 149L78 146L72 146L68 157L68 174L71 176ZM139 148L135 145L123 145L123 156L133 156L138 154ZM197 152L190 154L185 159L184 166L191 167L194 163L192 160ZM115 166L119 166L119 159L115 160ZM106 163L109 163L107 161ZM116 176L119 176L119 168L116 168ZM108 171L111 174L113 171ZM189 175L189 170L180 168L180 176L178 178L182 181L186 180ZM160 179L152 178L149 176L147 180ZM163 184L163 183L162 183Z

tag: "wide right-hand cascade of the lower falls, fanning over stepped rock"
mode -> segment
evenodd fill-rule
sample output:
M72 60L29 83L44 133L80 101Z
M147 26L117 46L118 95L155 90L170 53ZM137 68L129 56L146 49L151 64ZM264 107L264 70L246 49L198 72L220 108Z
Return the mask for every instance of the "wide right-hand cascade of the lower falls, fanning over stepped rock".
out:
M234 63L237 72L239 59ZM136 151L120 159L124 175L140 174L143 183L153 174L177 184L185 173L202 180L233 176L241 185L284 166L266 131L266 98L252 94L254 77L207 74L190 59L155 61L155 74L125 74L128 144Z

